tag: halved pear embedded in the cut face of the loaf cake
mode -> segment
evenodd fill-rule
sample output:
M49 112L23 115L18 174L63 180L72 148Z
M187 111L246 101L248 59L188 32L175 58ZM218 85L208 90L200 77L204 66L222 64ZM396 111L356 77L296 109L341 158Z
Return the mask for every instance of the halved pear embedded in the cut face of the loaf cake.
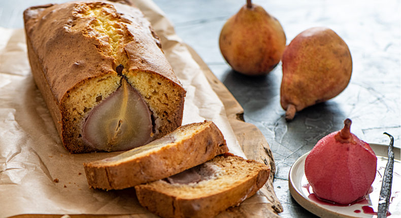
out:
M121 87L89 113L83 127L84 139L104 151L124 151L149 142L152 119L142 96L125 79Z

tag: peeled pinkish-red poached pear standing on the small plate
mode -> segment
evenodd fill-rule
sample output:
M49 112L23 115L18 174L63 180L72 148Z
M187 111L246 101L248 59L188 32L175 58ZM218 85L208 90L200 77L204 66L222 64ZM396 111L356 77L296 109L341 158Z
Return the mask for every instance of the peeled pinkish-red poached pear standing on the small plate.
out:
M369 194L377 158L368 143L344 128L320 139L306 158L305 175L320 199L350 204Z

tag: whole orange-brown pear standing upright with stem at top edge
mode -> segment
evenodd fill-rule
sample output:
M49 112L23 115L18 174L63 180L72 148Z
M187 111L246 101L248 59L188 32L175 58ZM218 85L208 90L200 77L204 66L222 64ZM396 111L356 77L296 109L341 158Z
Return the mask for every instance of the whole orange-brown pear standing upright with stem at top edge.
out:
M232 69L257 76L270 72L281 60L286 38L280 22L248 0L221 29L220 51Z

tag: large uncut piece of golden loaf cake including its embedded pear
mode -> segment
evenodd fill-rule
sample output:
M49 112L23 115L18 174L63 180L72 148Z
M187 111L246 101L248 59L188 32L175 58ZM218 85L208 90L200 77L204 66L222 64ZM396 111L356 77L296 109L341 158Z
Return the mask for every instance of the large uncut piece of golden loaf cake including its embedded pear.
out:
M186 92L139 9L49 4L24 22L32 75L70 153L126 151L181 126Z

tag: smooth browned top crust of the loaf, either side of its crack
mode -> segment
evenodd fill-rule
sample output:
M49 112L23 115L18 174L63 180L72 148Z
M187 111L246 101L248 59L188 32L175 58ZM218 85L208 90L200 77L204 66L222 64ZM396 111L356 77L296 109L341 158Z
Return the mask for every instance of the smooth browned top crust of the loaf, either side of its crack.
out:
M135 35L135 41L124 47L129 69L160 74L182 87L160 49L156 33L139 9L100 1L31 7L24 12L25 29L29 41L36 45L32 49L46 66L44 74L57 101L60 102L66 92L85 79L115 73L118 65L114 58L99 51L99 47L105 46L100 39L82 33L82 26L88 26L93 18L77 19L74 15L77 4L113 5L118 11L116 15L127 22L128 34ZM58 55L61 55L62 62ZM53 71L57 74L48 73Z

